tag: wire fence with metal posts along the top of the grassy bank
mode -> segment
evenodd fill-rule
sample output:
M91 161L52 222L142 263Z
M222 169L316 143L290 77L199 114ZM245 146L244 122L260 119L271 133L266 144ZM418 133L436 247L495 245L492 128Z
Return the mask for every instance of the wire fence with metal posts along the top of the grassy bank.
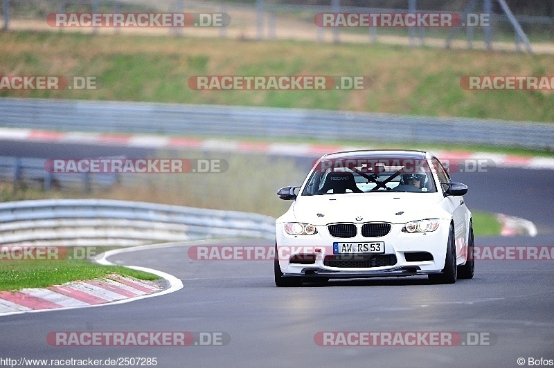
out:
M158 28L149 34L197 35L242 39L310 39L328 42L382 42L404 45L428 45L456 48L487 48L499 50L527 50L527 36L539 45L539 52L554 53L554 18L529 15L512 15L505 0L471 0L469 6L461 1L408 0L407 8L359 8L341 6L340 0L330 0L329 6L293 5L271 0L256 3L215 3L183 0L100 1L100 0L3 0L3 29L54 30L48 26L46 15L52 12L206 12L229 15L231 23L209 28ZM376 3L376 2L373 2ZM494 3L497 6L492 6ZM405 6L405 5L404 5ZM508 10L508 11L507 11ZM467 12L490 14L490 26L451 28L321 28L314 24L318 12ZM56 30L62 30L58 28ZM458 32L465 30L465 32ZM119 33L134 29L80 28L80 31ZM140 31L140 30L138 30ZM524 45L525 48L521 46ZM535 50L535 45L533 45Z

